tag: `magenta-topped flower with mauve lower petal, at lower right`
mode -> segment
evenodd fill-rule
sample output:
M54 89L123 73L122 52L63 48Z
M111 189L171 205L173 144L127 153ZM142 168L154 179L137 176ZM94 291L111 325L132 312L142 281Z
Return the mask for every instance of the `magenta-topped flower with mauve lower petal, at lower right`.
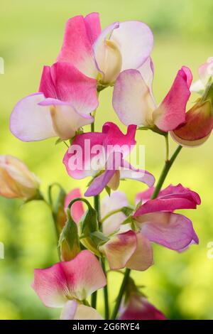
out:
M143 198L143 193L137 198ZM158 198L147 200L133 214L141 234L150 242L181 252L190 244L198 244L192 222L177 213L178 209L195 209L200 196L182 185L169 185L160 191Z

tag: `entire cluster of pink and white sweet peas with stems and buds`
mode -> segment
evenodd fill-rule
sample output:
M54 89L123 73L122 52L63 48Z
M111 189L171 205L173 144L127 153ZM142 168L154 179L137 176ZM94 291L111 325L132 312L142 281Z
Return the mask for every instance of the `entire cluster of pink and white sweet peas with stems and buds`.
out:
M183 185L162 185L182 146L197 146L213 129L213 60L199 69L192 84L190 68L182 66L163 101L155 101L151 60L153 34L140 21L111 23L102 30L99 14L67 21L62 48L52 66L44 66L38 92L19 101L10 119L11 132L21 141L58 137L68 146L63 163L75 179L90 177L80 189L60 189L48 204L58 232L60 262L35 269L33 289L45 306L62 308L62 319L102 319L97 290L104 289L105 318L109 318L107 270L126 268L111 318L165 319L131 279L131 270L153 265L152 243L182 252L198 244L192 222L175 210L196 209L200 196ZM107 122L94 131L99 94L114 87L112 105L117 124ZM190 110L191 92L200 97ZM91 124L91 131L85 132ZM131 165L127 157L136 146L136 131L149 129L165 137L167 155L158 183L152 173ZM169 156L168 134L179 146ZM118 190L121 180L145 183L129 205ZM37 178L11 156L0 157L0 193L7 198L45 200ZM101 201L99 194L107 190ZM94 197L94 207L87 200ZM85 209L87 206L87 210ZM99 261L100 260L100 261ZM91 297L89 303L88 297Z

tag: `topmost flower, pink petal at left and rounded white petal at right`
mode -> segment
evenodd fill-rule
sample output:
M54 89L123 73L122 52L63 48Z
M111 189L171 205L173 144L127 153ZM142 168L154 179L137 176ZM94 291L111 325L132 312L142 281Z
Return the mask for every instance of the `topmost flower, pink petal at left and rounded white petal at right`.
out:
M99 14L91 13L67 21L58 61L96 79L101 90L126 69L143 70L152 48L153 34L145 23L116 21L102 31Z

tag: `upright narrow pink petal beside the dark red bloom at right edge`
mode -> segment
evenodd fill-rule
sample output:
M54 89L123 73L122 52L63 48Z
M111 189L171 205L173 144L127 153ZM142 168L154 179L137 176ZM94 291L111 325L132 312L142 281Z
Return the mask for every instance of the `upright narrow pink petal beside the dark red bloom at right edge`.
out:
M162 131L171 131L185 122L185 111L190 98L192 72L183 66L175 77L168 95L153 112L155 125Z

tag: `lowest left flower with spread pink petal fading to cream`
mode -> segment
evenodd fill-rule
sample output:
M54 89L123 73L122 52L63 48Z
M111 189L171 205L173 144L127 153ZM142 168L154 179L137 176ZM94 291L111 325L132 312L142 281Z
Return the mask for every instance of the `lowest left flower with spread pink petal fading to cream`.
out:
M100 320L102 316L84 302L107 284L97 258L83 250L70 262L59 262L47 269L35 269L33 289L43 304L63 308L63 320Z

